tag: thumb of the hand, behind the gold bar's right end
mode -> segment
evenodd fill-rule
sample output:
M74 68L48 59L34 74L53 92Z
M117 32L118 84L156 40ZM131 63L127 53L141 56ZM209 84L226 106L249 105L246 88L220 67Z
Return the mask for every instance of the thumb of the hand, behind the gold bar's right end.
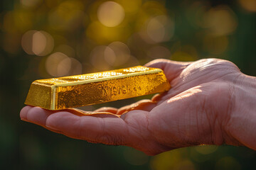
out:
M166 59L157 59L145 64L145 66L162 69L164 74L166 74L166 78L171 81L178 77L178 74L189 64L191 64L191 62L175 62Z

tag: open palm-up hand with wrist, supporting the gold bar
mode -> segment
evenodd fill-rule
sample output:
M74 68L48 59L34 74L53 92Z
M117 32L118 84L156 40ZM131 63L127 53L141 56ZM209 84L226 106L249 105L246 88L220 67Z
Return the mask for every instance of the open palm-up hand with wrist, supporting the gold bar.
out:
M126 145L154 155L194 145L242 145L256 149L256 80L232 62L154 60L172 88L151 100L79 115L26 106L21 120L75 139Z

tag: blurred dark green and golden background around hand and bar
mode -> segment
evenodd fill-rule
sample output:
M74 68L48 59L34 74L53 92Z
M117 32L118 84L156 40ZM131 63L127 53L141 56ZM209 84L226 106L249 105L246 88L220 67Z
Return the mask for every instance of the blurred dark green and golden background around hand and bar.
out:
M256 1L1 0L1 169L256 169L246 147L200 146L148 157L90 144L19 118L35 79L105 71L156 58L216 57L256 75ZM133 98L97 106L121 107Z

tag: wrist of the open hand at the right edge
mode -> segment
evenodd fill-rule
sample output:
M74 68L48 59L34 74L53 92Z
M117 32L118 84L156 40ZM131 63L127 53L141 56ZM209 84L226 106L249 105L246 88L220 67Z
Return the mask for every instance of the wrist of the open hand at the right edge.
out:
M225 143L256 149L256 79L240 74L233 86L232 109L223 128Z

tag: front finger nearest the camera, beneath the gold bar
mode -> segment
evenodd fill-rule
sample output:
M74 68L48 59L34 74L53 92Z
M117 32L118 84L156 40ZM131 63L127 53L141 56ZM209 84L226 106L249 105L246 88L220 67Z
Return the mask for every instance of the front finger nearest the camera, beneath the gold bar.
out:
M128 142L127 124L121 118L95 118L58 112L48 116L46 127L59 130L63 135L107 145Z

